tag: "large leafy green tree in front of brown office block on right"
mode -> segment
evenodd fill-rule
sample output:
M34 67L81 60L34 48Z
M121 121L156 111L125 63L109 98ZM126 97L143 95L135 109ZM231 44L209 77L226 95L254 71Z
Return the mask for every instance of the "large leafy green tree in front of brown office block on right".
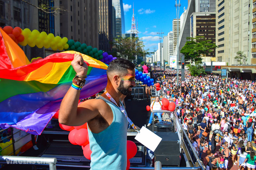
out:
M186 44L180 50L181 53L185 55L185 60L191 60L192 63L195 62L202 63L201 56L204 56L212 52L218 46L212 43L212 40L207 40L204 36L187 37Z

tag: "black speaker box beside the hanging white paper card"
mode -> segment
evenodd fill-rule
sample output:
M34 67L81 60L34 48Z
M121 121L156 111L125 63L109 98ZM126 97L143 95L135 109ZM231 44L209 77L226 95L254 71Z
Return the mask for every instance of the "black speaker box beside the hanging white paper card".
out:
M156 132L162 141L154 151L155 161L160 161L163 166L180 166L179 136L174 132Z

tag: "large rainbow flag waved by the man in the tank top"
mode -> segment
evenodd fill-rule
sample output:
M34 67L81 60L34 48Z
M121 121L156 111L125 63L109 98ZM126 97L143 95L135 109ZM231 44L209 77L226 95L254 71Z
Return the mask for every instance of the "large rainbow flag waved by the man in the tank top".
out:
M40 135L59 110L72 84L70 65L76 51L65 51L30 63L24 51L0 28L0 128ZM89 70L80 99L107 85L105 63L81 54Z

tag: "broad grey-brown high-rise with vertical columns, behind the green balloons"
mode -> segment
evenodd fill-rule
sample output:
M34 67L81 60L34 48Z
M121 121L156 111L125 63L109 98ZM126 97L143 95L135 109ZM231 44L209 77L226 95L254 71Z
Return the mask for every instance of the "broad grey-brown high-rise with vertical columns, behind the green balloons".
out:
M60 36L99 48L99 0L60 1Z

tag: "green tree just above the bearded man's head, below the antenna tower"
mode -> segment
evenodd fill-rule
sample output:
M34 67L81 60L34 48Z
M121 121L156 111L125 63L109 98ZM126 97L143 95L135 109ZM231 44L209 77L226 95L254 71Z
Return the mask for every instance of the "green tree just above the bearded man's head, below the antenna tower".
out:
M143 56L142 47L143 42L137 37L120 37L113 42L112 50L116 51L117 57L133 61L136 55Z

